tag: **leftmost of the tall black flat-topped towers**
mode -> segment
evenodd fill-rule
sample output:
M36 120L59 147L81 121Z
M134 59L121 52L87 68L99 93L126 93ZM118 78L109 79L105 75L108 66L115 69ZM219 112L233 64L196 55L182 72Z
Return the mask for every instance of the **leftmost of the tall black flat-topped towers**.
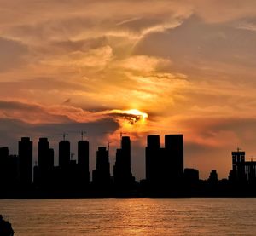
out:
M29 137L22 137L19 141L20 183L32 184L32 152L33 144Z

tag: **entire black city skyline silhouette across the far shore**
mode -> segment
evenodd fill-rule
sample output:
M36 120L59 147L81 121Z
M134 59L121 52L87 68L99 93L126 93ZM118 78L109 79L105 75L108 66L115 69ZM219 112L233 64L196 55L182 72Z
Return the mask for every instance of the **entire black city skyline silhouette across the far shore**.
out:
M55 166L54 149L49 147L47 138L39 138L38 161L33 166L33 143L29 137L22 137L19 141L18 155L9 155L8 147L0 147L2 192L128 191L136 192L139 196L169 196L181 193L204 195L212 193L212 189L216 193L234 193L236 187L246 187L256 193L256 162L245 161L245 152L241 150L232 152L233 166L228 180L218 181L217 171L212 170L208 180L201 181L198 170L183 168L183 135L165 135L165 147L160 147L159 135L148 135L145 148L146 178L138 183L131 172L129 136L121 137L121 145L116 150L113 176L110 171L109 148L98 147L96 169L92 171L90 181L89 148L89 141L79 141L78 158L75 160L70 142L64 136L59 142L59 164Z

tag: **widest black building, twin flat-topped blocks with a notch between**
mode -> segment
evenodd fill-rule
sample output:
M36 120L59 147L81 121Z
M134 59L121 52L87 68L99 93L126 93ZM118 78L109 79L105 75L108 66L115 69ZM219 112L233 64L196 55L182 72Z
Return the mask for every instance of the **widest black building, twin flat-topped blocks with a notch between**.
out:
M177 192L183 183L183 135L165 135L165 148L159 135L148 135L146 180L155 193Z

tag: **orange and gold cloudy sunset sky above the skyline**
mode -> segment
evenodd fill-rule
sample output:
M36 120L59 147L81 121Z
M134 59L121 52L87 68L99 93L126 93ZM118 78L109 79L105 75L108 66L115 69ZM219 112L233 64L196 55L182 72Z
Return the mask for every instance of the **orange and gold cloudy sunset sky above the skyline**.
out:
M201 178L256 156L256 1L0 0L0 146L47 136L57 164L80 130L91 170L130 135L137 180L147 135L183 134Z

